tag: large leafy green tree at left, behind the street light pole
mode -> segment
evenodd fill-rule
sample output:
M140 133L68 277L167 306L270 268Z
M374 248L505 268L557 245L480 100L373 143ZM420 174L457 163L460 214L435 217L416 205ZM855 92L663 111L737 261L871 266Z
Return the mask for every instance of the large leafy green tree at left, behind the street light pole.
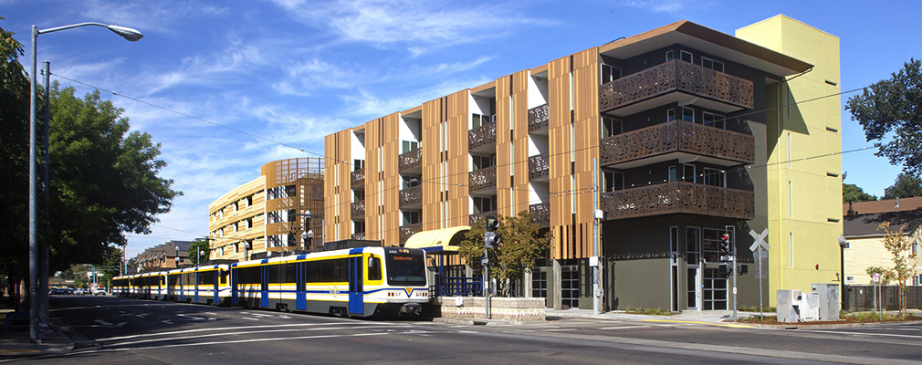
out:
M2 19L2 18L0 18ZM0 270L13 281L28 269L29 88L22 45L0 29ZM91 92L51 90L50 217L40 215L52 271L103 264L124 233L148 233L180 192L161 178L166 163L150 135L131 132L123 110ZM40 209L43 211L43 209Z

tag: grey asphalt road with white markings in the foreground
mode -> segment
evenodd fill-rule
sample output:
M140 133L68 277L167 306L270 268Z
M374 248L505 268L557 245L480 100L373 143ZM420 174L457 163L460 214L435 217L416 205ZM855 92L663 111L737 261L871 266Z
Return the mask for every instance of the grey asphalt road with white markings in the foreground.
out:
M561 319L469 325L356 320L113 297L57 296L74 351L42 364L922 363L922 325L817 330Z

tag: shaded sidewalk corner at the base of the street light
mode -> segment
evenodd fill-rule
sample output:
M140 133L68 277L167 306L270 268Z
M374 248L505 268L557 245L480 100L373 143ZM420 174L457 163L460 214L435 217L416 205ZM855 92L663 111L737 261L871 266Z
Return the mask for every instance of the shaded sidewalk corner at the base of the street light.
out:
M6 320L6 313L13 312L6 306L6 297L0 306L0 320ZM49 329L40 336L39 343L29 341L29 322L15 321L6 332L6 322L0 326L0 361L42 355L63 354L74 348L74 341L57 329L52 322Z

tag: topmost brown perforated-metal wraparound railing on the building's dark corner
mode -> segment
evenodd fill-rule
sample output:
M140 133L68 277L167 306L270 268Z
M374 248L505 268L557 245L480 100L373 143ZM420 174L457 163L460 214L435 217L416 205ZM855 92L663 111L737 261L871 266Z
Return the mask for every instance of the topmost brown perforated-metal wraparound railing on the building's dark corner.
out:
M673 60L600 86L599 110L608 112L673 91L687 92L742 108L753 107L752 81Z

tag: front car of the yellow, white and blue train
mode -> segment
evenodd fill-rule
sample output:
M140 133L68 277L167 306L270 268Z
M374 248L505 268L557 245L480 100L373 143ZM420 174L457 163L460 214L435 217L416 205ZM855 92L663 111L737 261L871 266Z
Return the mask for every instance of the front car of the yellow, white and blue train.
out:
M420 313L425 253L360 247L231 265L231 305L366 317Z

